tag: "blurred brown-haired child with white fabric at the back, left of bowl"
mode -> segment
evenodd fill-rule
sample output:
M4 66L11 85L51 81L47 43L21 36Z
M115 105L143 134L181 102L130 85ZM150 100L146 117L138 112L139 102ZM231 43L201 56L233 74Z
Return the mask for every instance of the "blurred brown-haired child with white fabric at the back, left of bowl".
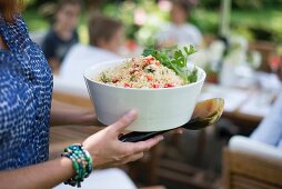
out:
M94 13L89 19L89 37L90 44L73 46L62 63L59 77L72 86L85 86L82 73L92 64L121 59L118 52L124 31L120 21Z

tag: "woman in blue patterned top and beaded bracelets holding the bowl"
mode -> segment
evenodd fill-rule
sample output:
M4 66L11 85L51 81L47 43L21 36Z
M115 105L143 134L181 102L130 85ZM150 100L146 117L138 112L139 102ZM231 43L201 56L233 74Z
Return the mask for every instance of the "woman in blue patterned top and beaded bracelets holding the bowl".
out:
M51 188L70 178L79 182L85 176L85 166L92 165L94 169L127 163L140 159L162 139L158 136L143 142L120 142L118 136L137 118L132 110L85 139L84 149L79 146L78 150L81 159L73 159L74 147L69 147L62 158L47 161L49 120L52 125L91 125L95 118L89 111L62 111L57 103L51 109L51 70L19 13L20 1L0 0L1 188ZM87 173L90 171L87 169Z

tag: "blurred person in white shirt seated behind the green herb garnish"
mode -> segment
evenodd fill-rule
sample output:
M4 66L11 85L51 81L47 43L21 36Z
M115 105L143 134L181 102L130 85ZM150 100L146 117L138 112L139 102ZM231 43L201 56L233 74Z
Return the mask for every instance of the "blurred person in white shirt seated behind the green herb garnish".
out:
M200 30L188 23L190 14L190 3L187 0L173 0L171 9L171 23L165 26L157 34L159 47L172 47L175 44L199 47L202 43Z

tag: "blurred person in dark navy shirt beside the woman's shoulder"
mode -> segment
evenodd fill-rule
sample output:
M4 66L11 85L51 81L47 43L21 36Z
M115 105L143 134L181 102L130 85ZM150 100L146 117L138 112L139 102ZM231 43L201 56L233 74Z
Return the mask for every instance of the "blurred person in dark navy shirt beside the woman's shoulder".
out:
M80 0L60 0L57 6L54 23L42 42L43 53L54 73L70 48L79 41L75 27L81 7Z

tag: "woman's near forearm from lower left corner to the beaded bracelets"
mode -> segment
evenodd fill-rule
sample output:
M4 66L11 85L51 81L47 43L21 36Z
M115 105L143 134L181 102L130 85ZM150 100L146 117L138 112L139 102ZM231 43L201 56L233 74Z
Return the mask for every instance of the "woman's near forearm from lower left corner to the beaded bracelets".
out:
M74 175L72 161L59 158L21 169L0 171L2 189L52 188Z

